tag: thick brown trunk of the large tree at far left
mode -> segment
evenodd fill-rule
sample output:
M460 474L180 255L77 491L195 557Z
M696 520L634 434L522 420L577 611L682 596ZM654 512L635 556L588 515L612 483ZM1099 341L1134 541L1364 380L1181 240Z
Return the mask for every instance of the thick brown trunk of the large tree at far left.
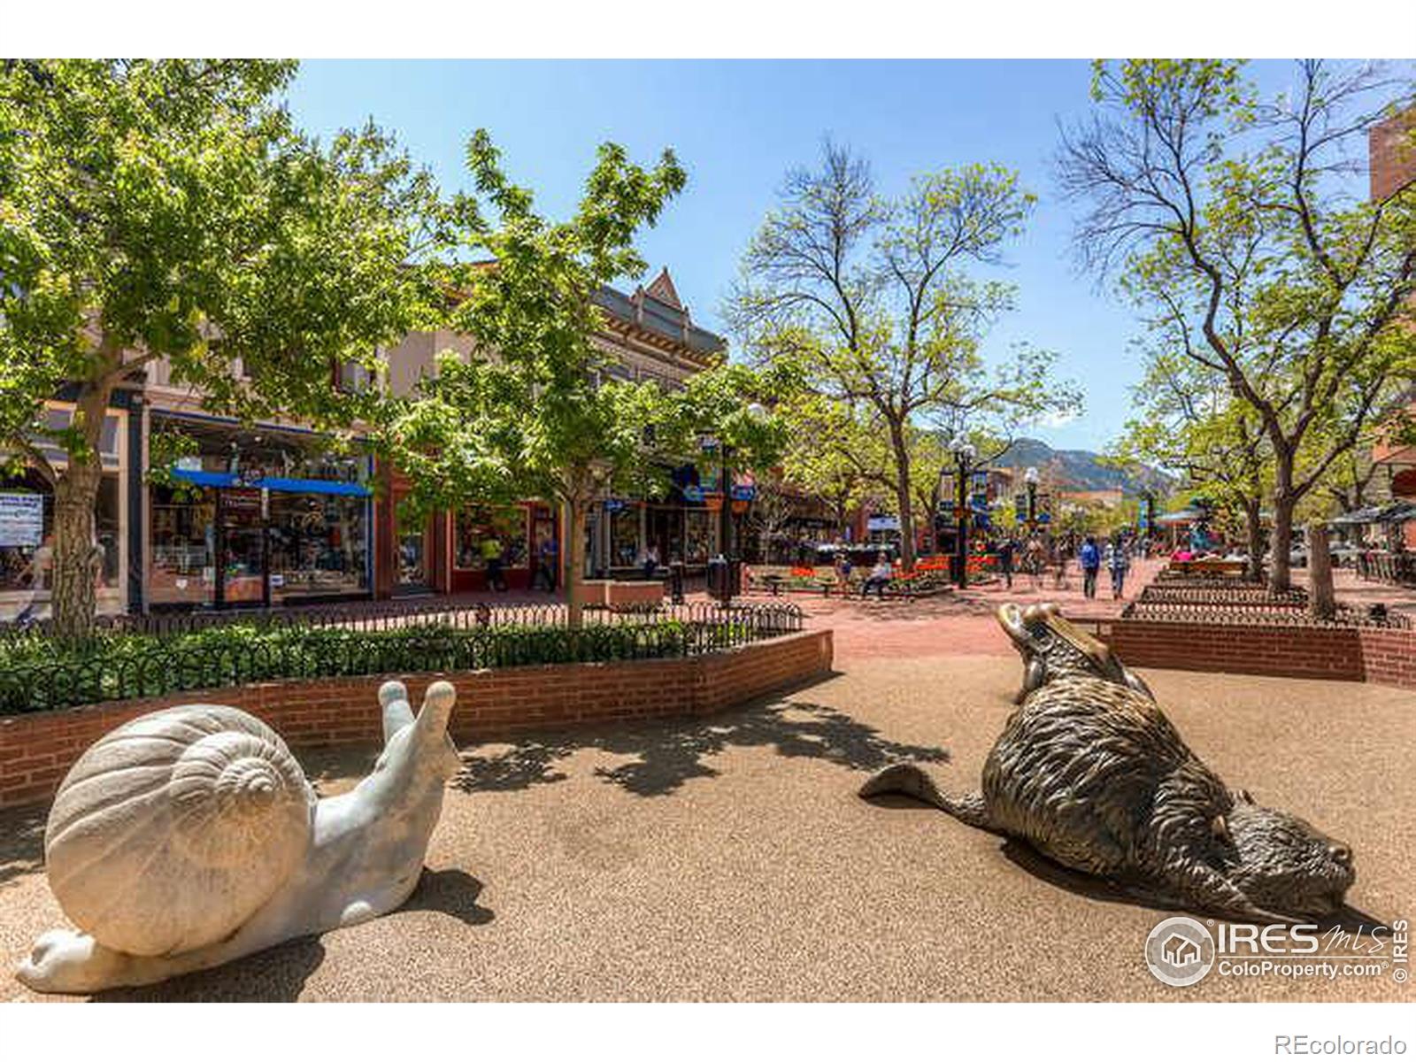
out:
M86 637L98 612L96 583L102 552L93 530L93 506L103 477L102 457L89 453L69 466L54 486L54 633Z

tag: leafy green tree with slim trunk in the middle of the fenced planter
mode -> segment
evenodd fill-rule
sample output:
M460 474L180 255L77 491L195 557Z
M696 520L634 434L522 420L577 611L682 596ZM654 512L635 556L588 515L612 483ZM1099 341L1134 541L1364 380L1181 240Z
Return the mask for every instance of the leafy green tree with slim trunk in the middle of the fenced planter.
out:
M575 214L559 222L535 211L513 184L486 130L467 144L476 195L450 208L463 259L445 265L452 292L446 326L472 337L462 357L445 351L438 372L391 404L379 443L413 484L415 508L452 508L469 498L559 503L565 532L566 602L572 624L583 609L585 528L590 506L610 490L653 491L670 453L708 419L729 445L749 435L741 375L701 374L666 395L653 382L603 377L595 343L603 327L593 296L644 262L634 234L653 225L684 187L673 152L643 169L603 144ZM741 429L741 430L739 430Z

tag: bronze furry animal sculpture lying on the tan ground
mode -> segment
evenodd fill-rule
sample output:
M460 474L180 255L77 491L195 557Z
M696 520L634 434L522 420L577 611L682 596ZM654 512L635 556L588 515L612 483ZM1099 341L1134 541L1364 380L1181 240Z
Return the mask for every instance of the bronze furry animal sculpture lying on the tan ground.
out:
M1055 605L1004 605L998 622L1025 677L983 790L952 797L922 767L896 763L862 797L906 793L1161 903L1267 922L1342 906L1351 848L1226 789L1146 684Z

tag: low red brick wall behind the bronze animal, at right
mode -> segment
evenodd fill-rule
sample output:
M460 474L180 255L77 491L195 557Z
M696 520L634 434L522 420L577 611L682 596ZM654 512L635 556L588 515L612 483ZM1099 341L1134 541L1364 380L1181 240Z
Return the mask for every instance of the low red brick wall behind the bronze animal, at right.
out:
M1382 683L1416 690L1416 630L1116 619L1099 633L1124 663L1181 671Z

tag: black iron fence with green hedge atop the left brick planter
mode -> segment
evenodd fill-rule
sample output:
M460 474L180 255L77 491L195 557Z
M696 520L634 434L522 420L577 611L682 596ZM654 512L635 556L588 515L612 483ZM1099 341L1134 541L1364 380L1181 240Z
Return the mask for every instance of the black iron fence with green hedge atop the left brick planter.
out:
M282 678L687 657L803 627L794 605L595 612L579 627L556 606L337 615L201 617L195 627L109 630L84 644L14 634L0 653L0 715Z

